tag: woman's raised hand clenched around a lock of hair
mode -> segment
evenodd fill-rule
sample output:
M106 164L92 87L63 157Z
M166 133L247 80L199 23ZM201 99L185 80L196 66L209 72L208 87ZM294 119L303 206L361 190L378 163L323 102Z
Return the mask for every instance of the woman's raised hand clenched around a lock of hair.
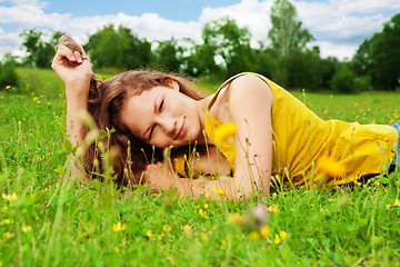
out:
M72 46L63 42L58 44L51 68L66 83L67 90L74 92L89 90L92 77L91 63L82 47L76 42Z

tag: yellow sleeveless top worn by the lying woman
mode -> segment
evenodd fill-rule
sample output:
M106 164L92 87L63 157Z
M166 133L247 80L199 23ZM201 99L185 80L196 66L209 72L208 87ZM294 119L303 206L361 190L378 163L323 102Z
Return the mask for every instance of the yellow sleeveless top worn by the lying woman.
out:
M212 107L222 88L247 73L250 72L239 73L227 80L218 89L208 108ZM379 174L382 167L394 158L399 136L393 127L361 126L358 122L340 120L324 121L277 83L261 75L252 75L266 81L273 93L272 175L278 175L284 181L290 180L293 185L304 185L311 180L316 182L320 179L328 185L341 185L356 181L361 176ZM209 139L233 167L234 146L216 142L214 129L222 123L207 113L204 125ZM177 171L182 169L182 162L179 161L181 160L174 160ZM342 175L321 175L327 162L339 162Z

